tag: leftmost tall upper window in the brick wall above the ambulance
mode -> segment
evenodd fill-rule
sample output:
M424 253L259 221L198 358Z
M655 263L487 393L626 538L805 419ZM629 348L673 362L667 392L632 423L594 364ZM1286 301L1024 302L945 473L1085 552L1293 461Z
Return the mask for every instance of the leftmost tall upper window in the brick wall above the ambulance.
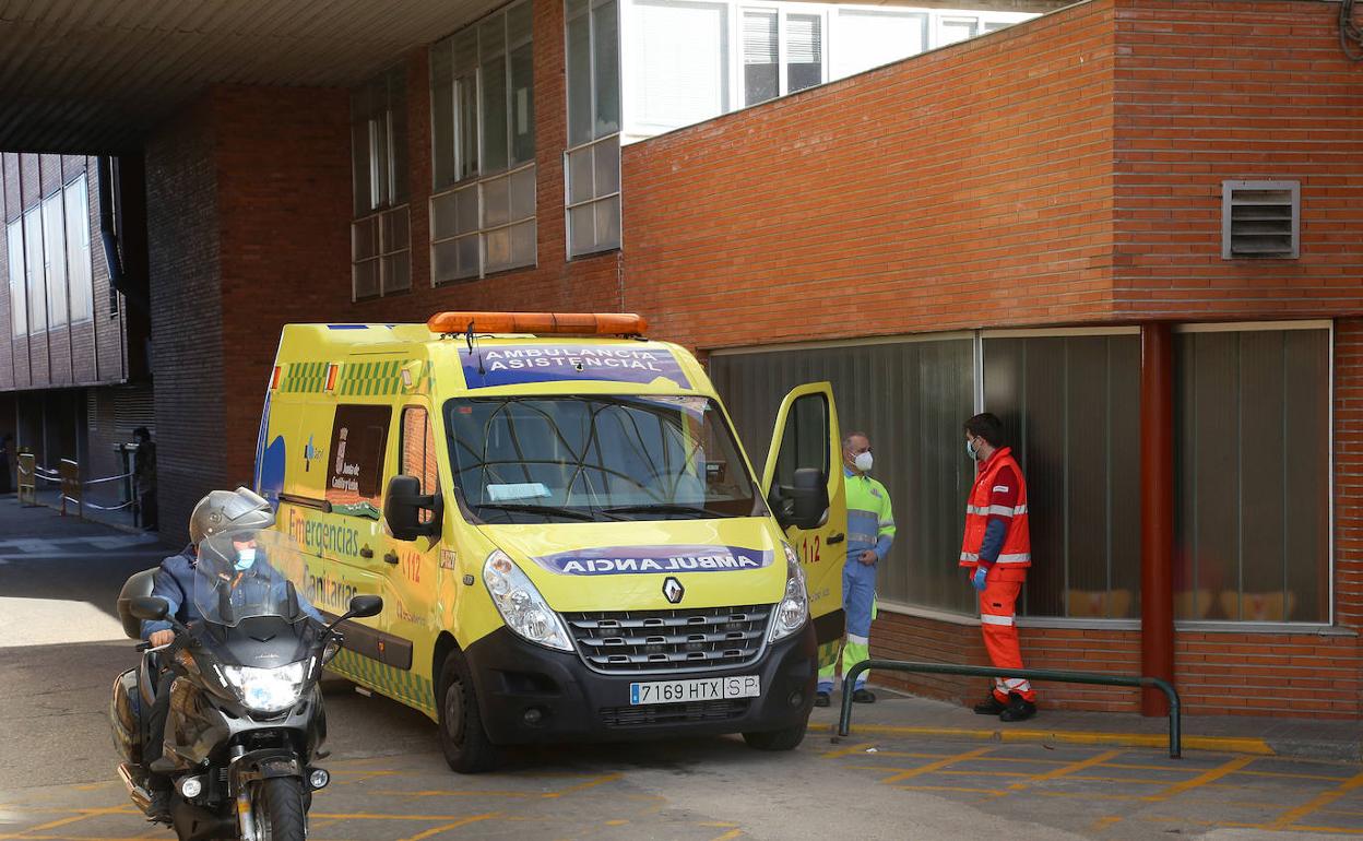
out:
M354 176L350 278L354 300L412 288L405 72L403 67L395 67L350 95Z

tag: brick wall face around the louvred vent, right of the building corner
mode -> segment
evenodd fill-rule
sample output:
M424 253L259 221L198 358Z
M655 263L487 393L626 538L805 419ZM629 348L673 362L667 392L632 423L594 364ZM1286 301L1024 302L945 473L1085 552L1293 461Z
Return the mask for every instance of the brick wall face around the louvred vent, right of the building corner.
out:
M1363 312L1363 67L1334 3L1118 0L1115 311ZM1221 259L1221 181L1299 180L1302 256Z

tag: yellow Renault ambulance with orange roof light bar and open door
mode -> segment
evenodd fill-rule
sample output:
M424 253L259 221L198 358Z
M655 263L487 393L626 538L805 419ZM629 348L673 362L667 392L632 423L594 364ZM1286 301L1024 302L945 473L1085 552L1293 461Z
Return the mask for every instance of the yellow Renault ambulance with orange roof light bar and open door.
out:
M442 312L284 328L256 489L346 623L331 668L497 746L804 736L842 634L827 383L782 402L761 481L701 364L627 314Z

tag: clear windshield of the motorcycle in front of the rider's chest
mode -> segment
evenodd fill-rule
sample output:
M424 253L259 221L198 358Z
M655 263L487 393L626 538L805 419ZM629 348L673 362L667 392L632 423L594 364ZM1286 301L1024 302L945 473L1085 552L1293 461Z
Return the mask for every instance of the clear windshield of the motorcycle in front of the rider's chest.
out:
M256 616L303 615L290 579L301 555L278 532L219 532L199 544L194 602L204 622L236 627Z

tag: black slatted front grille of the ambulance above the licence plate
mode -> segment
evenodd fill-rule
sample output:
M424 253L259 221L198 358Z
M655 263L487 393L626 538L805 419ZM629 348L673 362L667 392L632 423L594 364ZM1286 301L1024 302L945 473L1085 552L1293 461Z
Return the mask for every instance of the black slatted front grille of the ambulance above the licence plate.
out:
M564 613L583 662L598 672L711 671L762 654L773 605Z

